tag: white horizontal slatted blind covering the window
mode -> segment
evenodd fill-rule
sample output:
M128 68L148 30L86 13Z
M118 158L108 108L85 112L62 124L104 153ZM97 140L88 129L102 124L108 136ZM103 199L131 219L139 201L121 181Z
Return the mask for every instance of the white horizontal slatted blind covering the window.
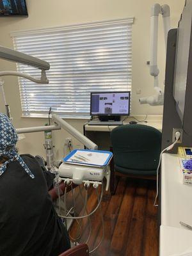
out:
M19 79L24 116L89 116L90 92L131 90L132 22L113 20L12 33L15 50L50 63L49 84ZM40 70L17 65L40 77Z

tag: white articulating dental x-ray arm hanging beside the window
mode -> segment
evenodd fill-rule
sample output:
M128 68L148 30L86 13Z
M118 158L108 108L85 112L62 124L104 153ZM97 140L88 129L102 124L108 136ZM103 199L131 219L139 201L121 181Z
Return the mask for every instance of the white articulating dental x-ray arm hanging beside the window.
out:
M154 77L154 89L156 95L140 99L141 104L150 104L151 106L163 105L164 93L159 87L158 75L159 68L157 67L157 43L158 43L158 19L159 14L163 16L164 24L164 42L165 49L167 43L168 31L170 30L170 7L167 4L161 6L154 4L151 9L150 17L150 75Z

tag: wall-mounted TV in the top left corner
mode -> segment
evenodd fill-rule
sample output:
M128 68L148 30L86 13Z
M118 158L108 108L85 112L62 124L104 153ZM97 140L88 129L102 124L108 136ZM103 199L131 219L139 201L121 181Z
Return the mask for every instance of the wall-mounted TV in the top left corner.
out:
M0 17L28 17L25 0L0 0Z

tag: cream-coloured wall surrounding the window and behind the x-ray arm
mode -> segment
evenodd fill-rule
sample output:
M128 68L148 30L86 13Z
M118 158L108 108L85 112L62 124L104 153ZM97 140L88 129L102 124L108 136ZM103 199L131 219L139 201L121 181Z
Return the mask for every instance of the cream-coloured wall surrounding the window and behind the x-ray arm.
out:
M156 3L154 0L26 0L28 5L28 18L2 18L0 26L0 44L13 48L11 31L23 29L37 29L49 26L65 26L83 22L93 22L96 20L122 19L135 17L132 33L132 114L161 115L162 107L141 106L138 99L142 96L154 94L153 78L149 75L149 41L150 41L150 7ZM180 18L180 13L184 6L184 0L167 0L170 5L172 27L176 28ZM159 4L164 4L159 1ZM164 36L162 19L159 19L159 81L164 80ZM15 63L0 61L0 70L15 70ZM10 104L15 127L29 127L44 125L46 120L37 118L21 118L20 98L18 81L16 77L6 77L5 93ZM163 86L161 86L163 87ZM136 95L136 90L141 89L141 95ZM3 111L2 99L0 98L0 111ZM85 120L69 120L83 131ZM63 154L63 143L68 134L66 132L54 132L54 142L56 143L56 157ZM19 142L20 152L31 154L44 154L42 146L44 134L26 134L26 139ZM79 143L74 141L79 147Z

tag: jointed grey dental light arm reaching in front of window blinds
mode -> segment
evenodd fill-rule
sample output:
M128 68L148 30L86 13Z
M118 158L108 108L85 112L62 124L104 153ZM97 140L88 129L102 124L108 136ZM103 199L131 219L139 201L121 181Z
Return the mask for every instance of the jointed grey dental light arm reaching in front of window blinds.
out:
M25 65L30 65L32 67L39 68L40 70L42 70L40 79L36 79L35 77L29 76L28 74L16 71L2 71L0 72L0 76L19 76L29 79L35 83L49 83L49 80L46 77L45 70L49 70L50 65L46 61L29 56L28 54L24 54L22 52L14 51L3 46L0 46L0 58L8 61L23 63Z

